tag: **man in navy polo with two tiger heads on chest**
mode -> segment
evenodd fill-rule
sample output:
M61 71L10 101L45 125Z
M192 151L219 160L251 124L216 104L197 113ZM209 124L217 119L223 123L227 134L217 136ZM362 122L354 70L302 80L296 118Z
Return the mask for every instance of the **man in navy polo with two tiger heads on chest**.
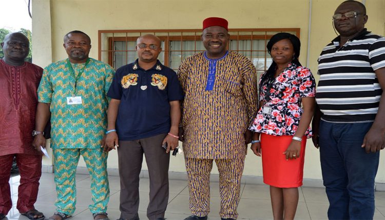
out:
M138 38L138 59L119 68L108 96L105 150L118 147L120 219L139 219L139 174L143 153L150 178L149 219L164 219L168 202L169 151L178 146L180 100L177 74L158 61L161 41ZM119 137L119 140L118 140ZM163 148L167 143L167 147Z

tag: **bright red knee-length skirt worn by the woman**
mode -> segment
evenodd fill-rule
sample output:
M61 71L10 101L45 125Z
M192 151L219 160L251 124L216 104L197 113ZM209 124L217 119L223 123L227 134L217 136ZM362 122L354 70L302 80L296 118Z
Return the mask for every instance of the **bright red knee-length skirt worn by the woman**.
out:
M306 137L302 138L299 158L286 161L283 152L292 142L292 138L289 135L261 134L263 183L279 188L302 186Z

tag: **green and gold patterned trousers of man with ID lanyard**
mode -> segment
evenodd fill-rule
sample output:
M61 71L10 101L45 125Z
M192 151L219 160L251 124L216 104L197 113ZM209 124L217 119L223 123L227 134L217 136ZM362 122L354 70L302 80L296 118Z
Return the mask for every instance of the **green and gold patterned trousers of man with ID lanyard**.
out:
M57 199L56 210L72 215L76 205L75 174L80 155L86 162L91 175L91 195L93 205L88 208L92 213L106 212L109 201L107 176L107 155L99 149L53 149L55 184Z

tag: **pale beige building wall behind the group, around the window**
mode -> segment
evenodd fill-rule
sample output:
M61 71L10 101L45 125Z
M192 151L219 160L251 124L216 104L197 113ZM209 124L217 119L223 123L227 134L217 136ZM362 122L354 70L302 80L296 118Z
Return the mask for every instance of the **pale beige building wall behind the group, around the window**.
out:
M317 58L321 49L336 34L332 15L342 1L336 0L255 0L255 1L66 1L34 0L33 57L42 66L66 58L63 35L71 30L82 30L92 39L91 57L98 57L98 30L113 29L199 29L204 18L225 17L229 28L300 28L303 65L317 72ZM310 49L308 51L309 16ZM367 0L369 30L385 34L385 0ZM49 6L49 7L47 7ZM50 10L50 14L47 10ZM39 23L35 21L40 21ZM35 37L36 35L41 38ZM47 36L47 37L45 37ZM40 48L50 45L52 50ZM309 64L306 64L309 55ZM50 56L52 58L50 58ZM318 76L316 76L318 78ZM318 150L309 140L306 146L304 178L321 179ZM381 157L381 161L383 161ZM383 163L380 163L380 167ZM83 162L80 166L85 166ZM109 155L108 166L117 168L117 153ZM144 169L146 169L144 164ZM171 157L170 170L184 172L182 155ZM218 173L216 168L213 173ZM244 175L262 175L261 159L249 151ZM385 183L385 169L379 169L377 182Z

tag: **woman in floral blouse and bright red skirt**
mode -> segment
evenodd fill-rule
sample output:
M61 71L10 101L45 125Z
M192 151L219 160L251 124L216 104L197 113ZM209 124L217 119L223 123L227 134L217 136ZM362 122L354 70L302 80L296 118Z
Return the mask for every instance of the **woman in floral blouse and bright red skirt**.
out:
M315 79L298 61L300 41L275 34L267 44L272 65L259 81L260 109L252 150L262 155L263 182L270 185L274 219L294 219L302 186L306 138L315 106ZM302 106L302 107L301 107Z

